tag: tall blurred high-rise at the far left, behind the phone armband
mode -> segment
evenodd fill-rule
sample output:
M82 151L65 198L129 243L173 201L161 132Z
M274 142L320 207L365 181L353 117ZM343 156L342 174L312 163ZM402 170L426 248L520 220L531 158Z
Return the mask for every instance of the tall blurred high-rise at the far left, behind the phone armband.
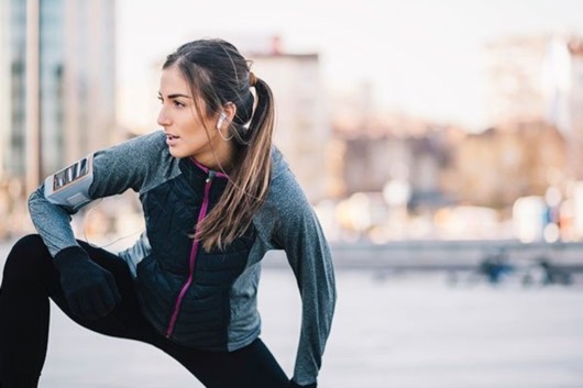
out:
M0 25L0 180L29 192L110 142L114 0L4 0Z

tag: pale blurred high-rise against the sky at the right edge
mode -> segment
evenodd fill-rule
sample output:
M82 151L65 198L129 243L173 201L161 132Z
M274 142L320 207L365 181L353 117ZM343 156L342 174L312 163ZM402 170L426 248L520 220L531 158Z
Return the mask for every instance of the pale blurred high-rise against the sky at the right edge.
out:
M503 38L486 46L485 102L492 125L554 125L569 145L569 175L578 180L583 179L582 47L580 37L554 35Z

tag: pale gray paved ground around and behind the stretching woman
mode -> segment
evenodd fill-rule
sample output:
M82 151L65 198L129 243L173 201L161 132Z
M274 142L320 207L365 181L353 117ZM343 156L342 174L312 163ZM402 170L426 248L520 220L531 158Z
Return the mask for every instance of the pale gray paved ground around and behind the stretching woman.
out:
M321 388L583 387L581 286L451 286L441 273L337 277ZM260 303L263 339L290 373L299 326L290 271L264 271ZM53 312L41 387L201 387L158 351L87 332Z

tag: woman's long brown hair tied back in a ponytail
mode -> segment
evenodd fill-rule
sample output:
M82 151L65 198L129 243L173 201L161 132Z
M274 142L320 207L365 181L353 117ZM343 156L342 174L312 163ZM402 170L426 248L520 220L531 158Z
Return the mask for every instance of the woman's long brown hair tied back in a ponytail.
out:
M229 136L237 143L229 182L218 203L197 225L195 235L207 251L222 250L245 233L267 196L275 126L273 93L265 81L250 71L251 62L223 40L186 43L167 56L163 69L173 65L188 81L199 114L216 114L227 103L237 107L229 123ZM205 112L196 103L199 99L205 102Z

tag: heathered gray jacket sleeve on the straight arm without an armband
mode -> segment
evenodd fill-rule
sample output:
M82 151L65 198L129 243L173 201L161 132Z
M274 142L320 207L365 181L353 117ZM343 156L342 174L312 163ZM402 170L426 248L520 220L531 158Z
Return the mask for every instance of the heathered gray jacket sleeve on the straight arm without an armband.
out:
M317 381L331 329L334 271L328 242L305 196L288 197L285 203L275 225L275 243L286 253L301 297L301 332L293 379L310 385Z

